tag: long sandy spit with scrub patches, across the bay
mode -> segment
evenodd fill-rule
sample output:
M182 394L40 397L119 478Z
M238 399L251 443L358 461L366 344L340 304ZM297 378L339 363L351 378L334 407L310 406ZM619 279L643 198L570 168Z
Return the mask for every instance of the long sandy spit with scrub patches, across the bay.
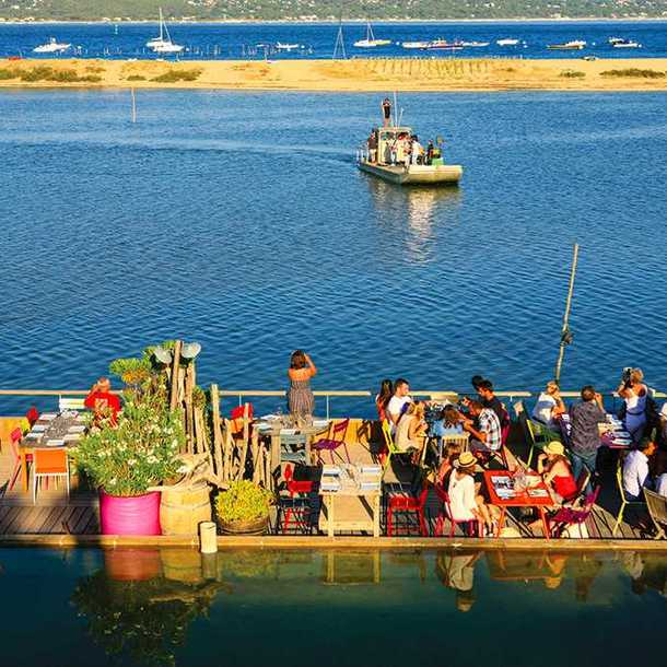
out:
M667 59L0 60L0 87L15 86L323 92L664 91Z

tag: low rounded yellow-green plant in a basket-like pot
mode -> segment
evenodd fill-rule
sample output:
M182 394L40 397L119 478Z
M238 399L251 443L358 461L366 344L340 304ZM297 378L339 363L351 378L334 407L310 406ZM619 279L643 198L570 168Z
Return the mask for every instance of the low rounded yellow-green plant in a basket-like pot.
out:
M273 494L250 480L237 480L215 500L218 520L226 535L262 535L269 525Z

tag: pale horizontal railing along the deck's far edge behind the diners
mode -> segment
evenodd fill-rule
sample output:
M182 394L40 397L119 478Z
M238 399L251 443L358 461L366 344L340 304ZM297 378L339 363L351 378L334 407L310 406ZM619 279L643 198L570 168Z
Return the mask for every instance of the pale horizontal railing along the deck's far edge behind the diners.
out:
M651 395L656 400L667 399L667 394L655 388L651 388ZM60 398L65 397L79 397L86 396L89 389L0 389L0 397L31 397L31 398ZM120 394L119 390L114 391ZM248 399L270 399L270 398L285 398L286 393L284 389L219 389L220 398L234 398L238 405L243 405ZM525 390L525 389L503 389L495 391L501 400L506 402L514 402L518 399L531 399L537 398L541 389L539 390ZM605 399L611 400L611 408L616 410L617 401L619 396L616 391L607 390L600 391ZM332 399L352 399L352 400L364 400L371 401L372 397L375 396L375 391L367 389L360 390L344 390L344 389L316 389L313 391L316 399L324 399L326 417L331 417L331 401ZM410 394L417 398L424 400L455 400L459 396L470 396L471 389L454 390L454 389L420 389L410 391ZM561 397L567 399L577 399L580 397L578 390L563 390ZM510 407L510 406L508 406Z

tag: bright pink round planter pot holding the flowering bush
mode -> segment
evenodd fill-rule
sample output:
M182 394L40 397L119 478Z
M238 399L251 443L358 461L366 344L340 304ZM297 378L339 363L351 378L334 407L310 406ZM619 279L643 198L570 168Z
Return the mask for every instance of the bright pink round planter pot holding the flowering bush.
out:
M102 535L162 535L160 526L161 493L109 495L100 489L100 526Z

